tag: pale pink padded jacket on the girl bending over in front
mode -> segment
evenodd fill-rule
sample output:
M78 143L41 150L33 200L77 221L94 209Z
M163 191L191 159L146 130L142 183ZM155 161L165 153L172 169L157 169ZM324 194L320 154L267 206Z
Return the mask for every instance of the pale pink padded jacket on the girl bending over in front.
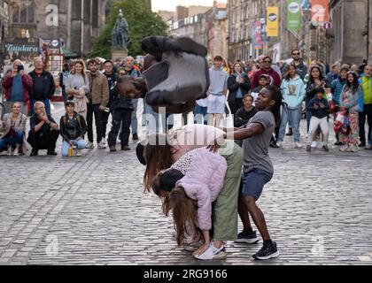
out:
M212 228L212 203L217 199L223 187L228 164L224 157L209 149L194 149L190 169L176 183L183 187L186 195L198 201L198 227L202 230ZM182 158L179 160L182 162Z

